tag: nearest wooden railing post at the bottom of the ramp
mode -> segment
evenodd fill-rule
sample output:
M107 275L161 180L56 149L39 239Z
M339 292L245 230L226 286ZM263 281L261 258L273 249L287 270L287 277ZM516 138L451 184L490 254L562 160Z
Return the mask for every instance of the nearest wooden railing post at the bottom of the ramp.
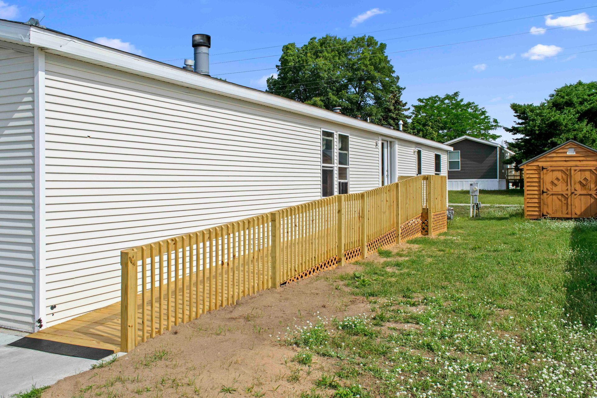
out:
M137 335L137 251L120 252L121 270L121 326L120 349L128 353L135 348Z

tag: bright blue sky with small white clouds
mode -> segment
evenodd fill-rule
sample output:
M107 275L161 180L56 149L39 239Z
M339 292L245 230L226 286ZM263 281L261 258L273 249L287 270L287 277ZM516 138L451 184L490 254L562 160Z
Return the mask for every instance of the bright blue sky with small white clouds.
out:
M45 16L42 24L52 29L156 60L172 60L169 62L177 66L182 66L182 58L192 58L192 34L208 33L211 74L249 87L264 86L264 79L275 72L268 68L275 68L283 44L298 44L326 33L352 36L384 30L371 35L387 43L387 53L395 53L389 56L406 87L408 103L460 91L466 100L484 106L501 125L510 126L514 121L511 102L538 104L556 87L597 76L597 51L581 53L597 50L597 23L590 23L597 20L597 2L564 0L536 5L546 1L0 0L0 18L26 21ZM491 13L527 5L533 7ZM466 17L482 13L491 14ZM435 22L449 18L458 19ZM515 18L524 19L494 23ZM488 23L494 24L469 27ZM576 26L553 29L568 25ZM457 30L433 33L448 29ZM536 32L527 33L531 30ZM220 54L261 47L272 48ZM253 57L265 58L218 64ZM264 70L230 73L256 69ZM500 140L511 138L500 134Z

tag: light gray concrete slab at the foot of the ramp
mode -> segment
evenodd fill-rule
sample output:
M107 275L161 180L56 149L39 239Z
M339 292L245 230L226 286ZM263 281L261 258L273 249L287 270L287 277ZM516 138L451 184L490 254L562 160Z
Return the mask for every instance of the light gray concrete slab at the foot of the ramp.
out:
M0 397L8 398L32 385L42 387L87 371L97 360L44 353L28 348L10 347L21 335L0 331Z

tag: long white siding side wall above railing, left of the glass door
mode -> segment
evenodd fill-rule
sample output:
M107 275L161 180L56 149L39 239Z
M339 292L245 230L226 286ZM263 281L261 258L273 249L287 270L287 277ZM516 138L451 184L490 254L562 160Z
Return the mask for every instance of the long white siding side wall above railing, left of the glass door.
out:
M367 132L50 54L45 95L47 325L119 300L122 249L320 198L322 128L378 186Z

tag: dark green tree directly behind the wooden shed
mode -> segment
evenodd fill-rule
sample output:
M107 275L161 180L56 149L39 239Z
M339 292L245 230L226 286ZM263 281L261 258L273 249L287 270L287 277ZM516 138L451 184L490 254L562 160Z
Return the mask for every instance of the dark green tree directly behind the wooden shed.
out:
M568 140L597 147L597 82L567 84L538 104L510 105L518 121L506 131L519 135L509 144L518 164Z

